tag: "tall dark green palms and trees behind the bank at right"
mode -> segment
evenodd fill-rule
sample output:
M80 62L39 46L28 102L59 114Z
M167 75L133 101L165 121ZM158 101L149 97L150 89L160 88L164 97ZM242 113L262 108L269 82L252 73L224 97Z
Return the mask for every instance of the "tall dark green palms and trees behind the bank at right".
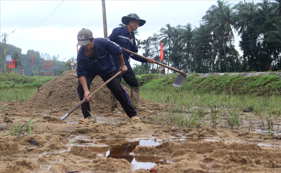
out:
M187 73L281 70L280 0L235 5L219 0L206 11L199 27L167 24L159 32L139 41L143 56L159 61L162 41L162 63ZM234 33L241 38L241 56L234 47ZM155 68L143 63L134 64L133 70L144 74Z

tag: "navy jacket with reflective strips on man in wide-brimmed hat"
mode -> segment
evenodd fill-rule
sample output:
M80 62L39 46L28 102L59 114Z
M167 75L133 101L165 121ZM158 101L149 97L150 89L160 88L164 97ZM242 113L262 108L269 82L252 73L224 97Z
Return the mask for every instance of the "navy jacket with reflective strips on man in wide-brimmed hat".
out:
M130 32L129 32L127 26L125 26L125 27L117 27L117 28L113 29L112 33L107 38L110 39L112 42L115 42L122 48L130 50L134 53L138 53L138 47L136 44L134 32L132 32L131 37L130 38L129 37L130 37ZM138 57L136 55L132 55L132 54L130 55L128 52L126 52L124 50L122 50L122 51L123 51L124 62L128 69L131 68L131 65L129 63L129 56L136 61L147 62L143 58L140 58L140 57ZM114 61L116 69L119 69L120 62L119 62L118 58L113 57L113 61Z

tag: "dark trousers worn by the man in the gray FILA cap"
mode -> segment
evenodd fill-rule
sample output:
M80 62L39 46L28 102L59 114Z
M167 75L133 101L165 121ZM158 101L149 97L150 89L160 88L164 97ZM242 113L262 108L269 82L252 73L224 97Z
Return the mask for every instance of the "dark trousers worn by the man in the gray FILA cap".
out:
M113 71L109 74L104 74L104 75L99 75L99 76L105 82L109 78L114 76L116 73L117 73L116 71ZM86 76L87 86L88 86L89 91L90 91L90 85L91 85L91 83L92 83L92 81L94 80L95 77L96 77L95 75L91 75L91 74L87 74L87 76ZM126 90L124 90L122 88L121 83L119 81L119 78L116 77L116 78L112 79L109 83L106 84L106 86L113 93L115 98L119 101L122 108L126 112L127 116L129 118L131 118L133 116L136 116L137 111L132 107L131 102L129 100L129 96L128 96ZM77 92L78 92L78 96L79 96L80 101L82 101L84 99L84 90L83 90L83 87L82 87L79 80L78 80ZM90 116L90 103L89 102L83 103L81 105L81 109L82 109L82 113L83 113L84 118L87 118L87 117Z

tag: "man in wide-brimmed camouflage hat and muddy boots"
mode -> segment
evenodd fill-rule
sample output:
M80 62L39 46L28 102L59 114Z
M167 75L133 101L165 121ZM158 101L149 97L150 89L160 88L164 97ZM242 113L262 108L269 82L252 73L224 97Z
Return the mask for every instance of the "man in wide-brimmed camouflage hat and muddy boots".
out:
M145 20L140 19L137 14L131 13L127 16L124 16L122 18L122 23L126 25L125 27L117 27L113 29L111 35L108 37L111 41L115 42L122 48L125 48L127 50L130 50L134 53L138 53L138 47L136 45L135 40L135 34L134 31L138 29L138 27L141 27L145 24ZM145 107L140 106L139 104L139 97L140 97L140 87L138 86L138 80L136 78L135 73L133 72L133 69L129 62L129 57L133 58L134 60L137 60L139 62L144 63L153 63L153 58L150 58L149 61L144 60L143 58L140 58L136 55L130 55L128 52L124 51L122 52L124 57L124 62L128 68L128 71L125 74L122 74L122 76L119 76L120 82L123 78L124 81L131 87L131 102L132 106L135 109L145 109ZM113 58L114 65L116 69L120 68L120 62L117 61L117 59ZM113 113L120 113L117 109L117 100L114 97L112 93L110 93L110 102L111 102L111 110Z

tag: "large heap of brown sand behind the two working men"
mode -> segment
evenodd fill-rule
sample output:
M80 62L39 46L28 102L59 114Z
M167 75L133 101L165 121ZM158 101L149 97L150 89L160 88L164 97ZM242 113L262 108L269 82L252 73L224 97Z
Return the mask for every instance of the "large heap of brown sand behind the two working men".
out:
M96 76L91 83L90 92L100 87L104 81L100 76ZM18 107L18 111L25 111L34 116L66 113L80 100L77 93L78 78L75 69L64 71L60 76L52 81L45 83L30 99ZM131 95L129 88L122 85ZM150 102L140 97L140 105L149 105ZM107 86L101 88L98 92L92 95L90 101L90 109L94 113L110 113L110 90ZM78 110L81 108L79 107ZM121 105L118 103L119 111L124 113Z

